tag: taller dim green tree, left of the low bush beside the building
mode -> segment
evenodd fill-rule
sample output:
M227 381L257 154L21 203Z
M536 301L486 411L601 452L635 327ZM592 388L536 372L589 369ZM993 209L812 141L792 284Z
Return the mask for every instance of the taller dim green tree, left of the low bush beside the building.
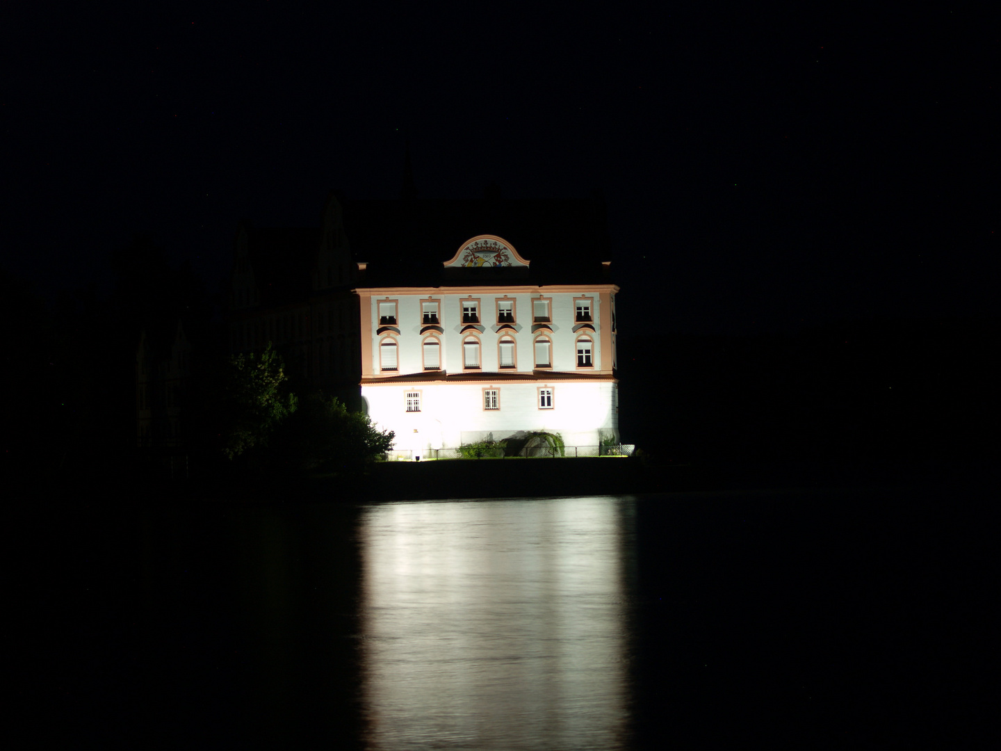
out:
M297 400L283 387L284 363L271 343L260 356L229 358L222 395L222 453L235 459L255 447L266 448L278 425L295 412Z

